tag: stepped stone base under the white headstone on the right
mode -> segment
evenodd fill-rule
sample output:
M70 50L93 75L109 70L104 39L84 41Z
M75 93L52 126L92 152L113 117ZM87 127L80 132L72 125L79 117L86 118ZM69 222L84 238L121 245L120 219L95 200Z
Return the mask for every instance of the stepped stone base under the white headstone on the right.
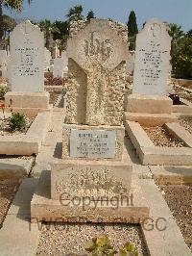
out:
M156 126L177 121L172 114L172 100L166 96L132 94L127 97L124 119Z

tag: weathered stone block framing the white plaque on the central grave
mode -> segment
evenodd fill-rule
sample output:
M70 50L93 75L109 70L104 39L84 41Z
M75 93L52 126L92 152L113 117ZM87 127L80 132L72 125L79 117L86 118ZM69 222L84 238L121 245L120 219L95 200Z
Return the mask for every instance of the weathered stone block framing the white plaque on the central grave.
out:
M92 131L92 134L94 133L98 133L98 131L103 131L104 134L108 133L108 132L112 132L115 134L114 136L114 141L108 141L108 145L114 143L114 155L113 158L111 160L121 160L122 158L122 152L123 152L123 141L124 141L124 136L125 136L125 129L123 126L88 126L88 125L75 125L75 124L64 124L63 125L63 140L62 140L62 158L63 159L77 159L78 157L70 155L70 147L74 148L75 146L77 146L78 144L76 144L76 141L71 140L71 132L73 130L78 131L83 131L89 133L90 130ZM71 140L71 142L70 142ZM108 139L109 140L109 139ZM101 141L100 141L101 142ZM75 143L75 144L72 144ZM93 146L95 144L95 142L92 142ZM90 146L90 143L89 143ZM86 147L86 152L88 151L88 146ZM99 147L98 145L96 146L97 148L94 150L95 152L97 152L97 154L92 155L90 153L90 151L88 152L87 155L82 155L82 157L79 157L79 159L82 158L86 158L86 159L100 159L101 157L103 159L108 159L111 158L108 157L107 154L103 154L103 156L101 156L99 154L98 148L101 148L101 146ZM111 149L109 149L108 151L111 151Z

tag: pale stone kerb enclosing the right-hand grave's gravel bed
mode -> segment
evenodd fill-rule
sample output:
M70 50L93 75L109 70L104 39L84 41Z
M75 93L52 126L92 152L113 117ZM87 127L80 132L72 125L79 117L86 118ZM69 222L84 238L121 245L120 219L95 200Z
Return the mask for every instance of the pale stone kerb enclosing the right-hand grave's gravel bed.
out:
M139 123L126 121L125 127L142 165L192 165L191 137L189 138L188 132L185 130L183 131L179 124L168 124L168 127L181 141L187 140L186 144L188 146L186 147L173 148L155 146ZM177 127L180 129L177 129Z

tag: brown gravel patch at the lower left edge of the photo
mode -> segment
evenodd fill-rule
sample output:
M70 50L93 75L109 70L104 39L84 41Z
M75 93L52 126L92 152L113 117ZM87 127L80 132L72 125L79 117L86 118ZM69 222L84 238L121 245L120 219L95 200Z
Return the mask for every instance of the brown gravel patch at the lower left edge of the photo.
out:
M12 199L17 192L18 183L0 182L0 228L6 218Z

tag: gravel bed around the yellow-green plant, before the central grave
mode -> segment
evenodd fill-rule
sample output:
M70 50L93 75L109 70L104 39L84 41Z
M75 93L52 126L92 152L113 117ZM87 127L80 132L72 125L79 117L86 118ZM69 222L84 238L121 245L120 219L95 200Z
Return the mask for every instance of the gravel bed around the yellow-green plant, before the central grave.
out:
M136 244L139 255L148 256L139 225L53 224L43 225L36 255L88 255L84 243L106 234L114 248L127 242ZM103 229L102 229L103 228Z

